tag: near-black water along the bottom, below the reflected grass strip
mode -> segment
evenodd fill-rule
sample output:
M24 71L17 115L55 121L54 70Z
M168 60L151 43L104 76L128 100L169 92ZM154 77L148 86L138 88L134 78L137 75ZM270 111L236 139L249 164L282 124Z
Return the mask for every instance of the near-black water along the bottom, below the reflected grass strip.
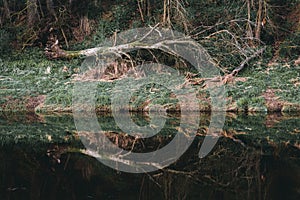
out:
M297 199L299 151L269 147L270 153L223 138L215 151L198 158L198 142L167 169L127 174L96 159L67 153L65 146L1 148L2 199ZM273 148L273 149L272 149ZM60 163L50 156L60 154ZM56 153L55 153L56 152ZM272 152L276 152L274 156ZM129 192L130 191L130 192Z

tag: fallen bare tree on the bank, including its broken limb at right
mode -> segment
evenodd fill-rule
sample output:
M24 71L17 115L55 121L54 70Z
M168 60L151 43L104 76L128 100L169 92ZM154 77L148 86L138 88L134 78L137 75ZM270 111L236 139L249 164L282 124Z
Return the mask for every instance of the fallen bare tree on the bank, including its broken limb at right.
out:
M168 54L171 54L175 57L180 57L178 55L177 50L182 48L184 50L191 50L192 55L194 57L201 57L206 61L209 61L211 63L214 63L212 59L210 59L209 55L207 54L206 50L199 45L195 40L191 39L189 36L185 36L176 32L173 32L169 29L161 29L158 28L158 25L155 25L154 27L145 28L145 29L134 29L125 32L125 34L117 35L115 34L113 38L110 40L107 40L103 43L103 45L99 47L79 50L79 51L67 51L63 50L62 47L59 44L59 41L54 35L50 35L47 46L45 48L45 55L49 59L62 59L62 58L76 58L76 57L89 57L89 56L102 56L102 55L115 55L119 58L122 58L122 56L125 56L132 60L131 56L128 54L130 51L138 50L138 49L146 49L146 50L161 50L163 52L166 52ZM137 32L135 32L137 31ZM236 36L229 31L219 31L214 34L219 34L225 32L226 34L230 34L232 38L234 39L234 44L237 49L240 50L241 55L243 55L245 58L240 63L239 66L237 66L234 70L232 70L230 73L225 73L223 77L210 77L209 80L212 80L214 82L222 81L223 83L230 82L233 76L236 76L244 67L249 64L249 62L259 57L266 47L255 49L250 48L248 45L245 49L242 49L242 44L238 42L238 39ZM188 48L187 48L188 47ZM197 52L200 51L203 53L203 55L196 55ZM190 52L188 52L190 53ZM201 59L200 58L200 59ZM181 58L182 59L182 58ZM197 59L196 59L197 60ZM187 61L187 60L186 60ZM185 62L186 62L185 61ZM191 63L192 65L198 65L198 63ZM214 65L216 65L214 63Z

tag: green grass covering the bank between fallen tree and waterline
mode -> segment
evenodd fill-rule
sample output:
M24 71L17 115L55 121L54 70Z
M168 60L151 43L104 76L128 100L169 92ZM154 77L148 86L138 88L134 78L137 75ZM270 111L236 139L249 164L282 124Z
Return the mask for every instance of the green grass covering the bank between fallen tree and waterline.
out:
M28 98L46 95L45 109L70 108L72 106L72 92L74 84L71 76L80 68L82 59L48 60L40 49L32 48L24 52L4 55L0 59L0 111L26 110ZM278 62L268 66L266 59L253 61L239 73L238 77L247 77L245 82L227 84L227 95L232 99L228 104L235 104L237 110L266 112L266 102L263 94L267 89L273 89L279 100L287 104L300 104L300 66L292 63ZM63 68L68 71L64 72ZM149 78L149 77L148 77ZM134 110L141 110L151 104L159 104L168 108L175 108L178 104L174 93L166 87L157 84L163 80L166 84L180 84L172 82L172 76L155 75L152 83L146 79L122 79L118 85L122 95L128 91L128 85L144 83L142 87L132 93L129 106ZM97 85L96 107L110 108L111 95L116 87L114 82L99 82ZM121 85L121 86L120 86ZM193 86L196 93L206 94L200 86ZM153 92L154 91L154 92ZM177 91L180 92L180 91ZM200 95L203 96L203 95ZM200 102L207 107L207 102ZM204 105L205 104L205 105ZM46 108L47 106L50 106ZM51 111L50 109L50 111ZM288 110L295 110L293 106ZM297 110L297 109L296 109Z

